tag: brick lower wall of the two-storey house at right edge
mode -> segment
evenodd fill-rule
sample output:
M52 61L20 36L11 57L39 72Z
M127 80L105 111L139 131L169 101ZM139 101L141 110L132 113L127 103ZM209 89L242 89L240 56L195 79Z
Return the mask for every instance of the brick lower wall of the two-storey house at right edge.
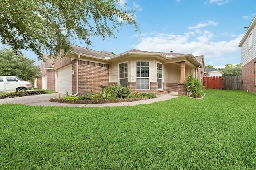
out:
M242 90L249 90L249 92L253 93L256 93L255 62L256 58L242 66Z

